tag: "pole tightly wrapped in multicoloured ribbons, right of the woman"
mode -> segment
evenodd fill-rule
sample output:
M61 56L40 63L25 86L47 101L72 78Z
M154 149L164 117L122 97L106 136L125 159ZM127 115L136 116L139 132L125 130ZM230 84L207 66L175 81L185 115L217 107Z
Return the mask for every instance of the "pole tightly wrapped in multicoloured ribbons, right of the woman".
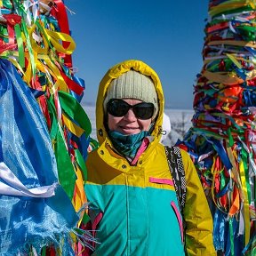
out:
M209 1L188 150L208 196L214 245L255 253L256 1Z

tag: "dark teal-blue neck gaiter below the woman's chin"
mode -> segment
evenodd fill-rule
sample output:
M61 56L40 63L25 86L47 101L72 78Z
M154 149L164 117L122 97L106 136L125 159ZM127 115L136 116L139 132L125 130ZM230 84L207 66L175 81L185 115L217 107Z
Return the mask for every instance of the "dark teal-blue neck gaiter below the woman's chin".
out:
M142 131L131 135L124 135L116 131L108 132L108 136L112 141L114 148L116 148L116 150L123 156L129 156L131 158L136 156L143 139L149 134L148 131Z

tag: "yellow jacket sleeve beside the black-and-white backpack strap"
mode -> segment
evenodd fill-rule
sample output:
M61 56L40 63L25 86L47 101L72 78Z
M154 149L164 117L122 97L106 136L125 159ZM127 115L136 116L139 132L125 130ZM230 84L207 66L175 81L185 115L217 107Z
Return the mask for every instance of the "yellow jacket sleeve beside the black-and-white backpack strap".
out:
M181 151L186 181L187 197L184 207L185 238L188 255L216 255L212 238L212 214L195 165L184 150Z

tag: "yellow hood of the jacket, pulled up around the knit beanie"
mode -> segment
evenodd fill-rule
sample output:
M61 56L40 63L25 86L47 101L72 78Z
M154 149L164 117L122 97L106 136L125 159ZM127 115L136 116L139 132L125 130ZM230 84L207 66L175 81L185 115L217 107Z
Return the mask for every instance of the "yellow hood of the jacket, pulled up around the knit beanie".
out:
M97 128L97 138L99 140L100 145L108 137L108 134L104 126L104 110L103 110L103 101L108 91L108 86L113 79L115 79L118 76L121 76L122 74L124 74L125 72L131 69L138 71L145 76L150 76L155 84L156 93L158 97L159 112L155 120L154 131L152 132L152 136L155 137L153 143L154 144L158 143L160 140L161 132L162 132L163 112L164 112L164 93L163 93L160 79L157 76L156 72L152 68L150 68L146 63L140 60L125 60L124 62L117 64L113 68L110 68L106 73L106 75L100 81L98 97L96 102L96 128Z

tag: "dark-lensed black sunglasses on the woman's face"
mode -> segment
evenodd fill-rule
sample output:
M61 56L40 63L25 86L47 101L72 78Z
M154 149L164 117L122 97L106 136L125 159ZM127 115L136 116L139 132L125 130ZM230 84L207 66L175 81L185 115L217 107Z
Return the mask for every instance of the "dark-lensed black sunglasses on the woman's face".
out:
M129 109L132 109L134 115L141 120L147 120L154 114L153 103L140 102L135 105L130 105L124 100L118 99L109 100L107 103L108 113L112 116L125 116Z

